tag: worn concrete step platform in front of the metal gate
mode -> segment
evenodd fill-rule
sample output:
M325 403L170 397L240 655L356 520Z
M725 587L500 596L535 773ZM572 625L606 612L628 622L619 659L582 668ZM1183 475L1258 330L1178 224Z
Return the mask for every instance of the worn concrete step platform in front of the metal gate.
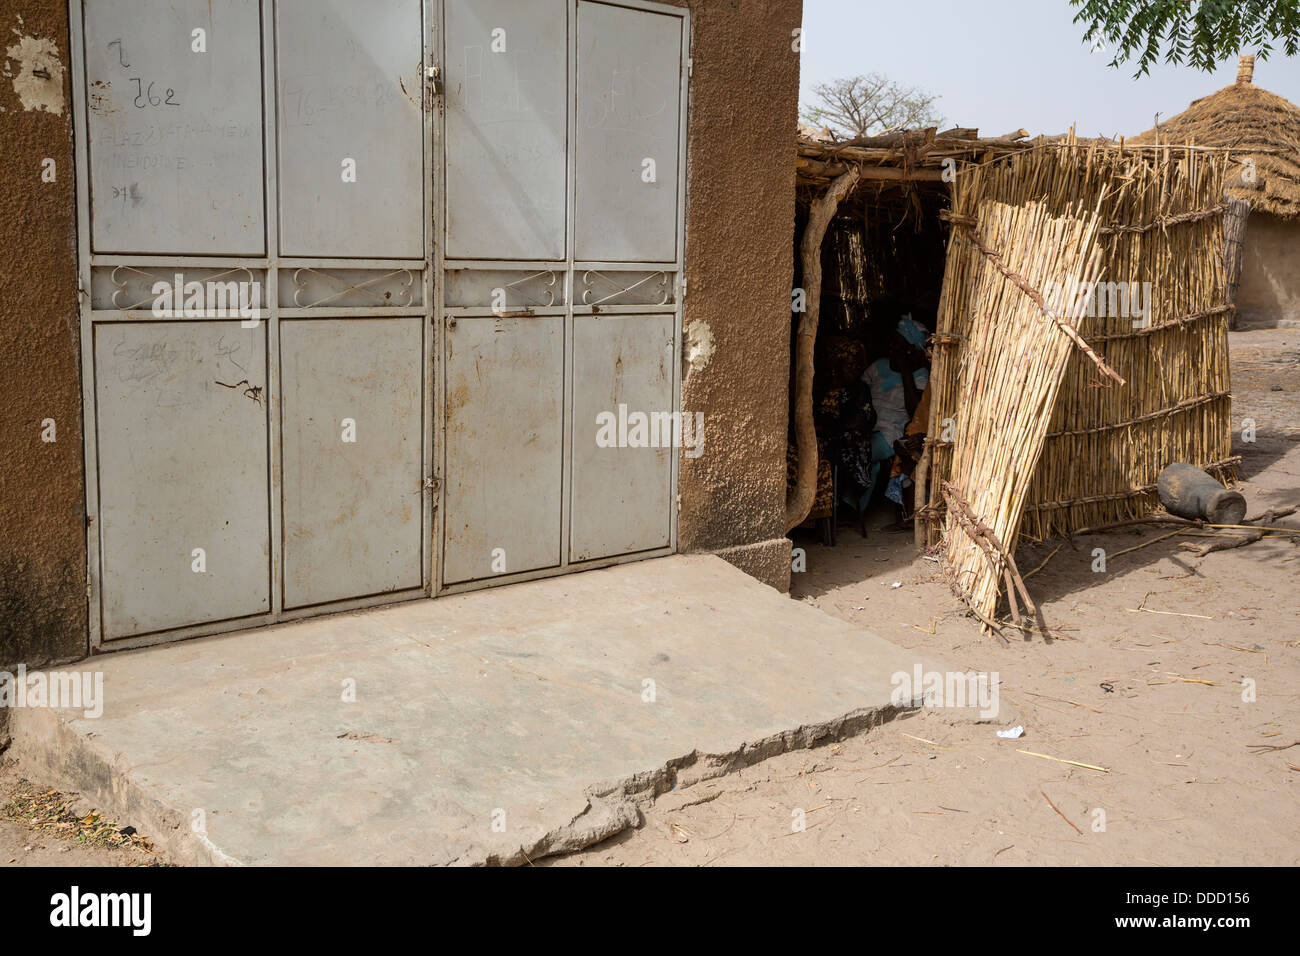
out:
M676 555L104 654L103 714L14 709L10 753L177 862L521 864L897 715L918 665Z

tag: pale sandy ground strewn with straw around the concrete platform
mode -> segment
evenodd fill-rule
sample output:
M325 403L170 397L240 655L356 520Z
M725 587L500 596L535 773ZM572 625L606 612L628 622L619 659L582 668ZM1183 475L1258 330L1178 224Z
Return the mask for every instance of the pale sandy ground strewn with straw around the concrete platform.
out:
M1257 429L1236 449L1251 514L1300 505L1300 330L1234 333L1232 359L1235 419ZM666 793L638 830L541 862L1300 862L1300 745L1256 752L1300 741L1300 546L1201 558L1179 549L1197 538L1174 537L1095 574L1093 548L1164 531L1078 538L1028 580L1057 640L1006 646L962 614L910 533L878 529L885 520L866 540L842 528L833 549L798 541L807 571L793 597L962 671L996 671L1004 719L898 719ZM1278 523L1300 528L1300 515ZM1022 549L1022 571L1057 544ZM998 739L1010 724L1024 736ZM0 767L0 809L31 791ZM148 862L0 813L0 866Z

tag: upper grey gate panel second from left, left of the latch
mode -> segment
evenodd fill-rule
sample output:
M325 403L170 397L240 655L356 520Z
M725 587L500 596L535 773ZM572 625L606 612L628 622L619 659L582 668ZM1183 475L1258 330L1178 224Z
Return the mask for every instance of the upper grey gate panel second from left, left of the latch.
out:
M422 258L421 0L276 9L282 254Z

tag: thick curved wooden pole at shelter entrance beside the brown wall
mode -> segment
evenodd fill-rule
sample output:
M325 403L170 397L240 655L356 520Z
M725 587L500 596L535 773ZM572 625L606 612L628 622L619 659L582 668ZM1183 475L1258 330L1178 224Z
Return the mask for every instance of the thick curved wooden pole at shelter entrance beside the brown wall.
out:
M840 203L858 183L858 168L842 173L831 187L812 203L809 221L800 243L800 261L803 265L803 317L794 346L794 440L798 446L798 464L794 471L794 489L785 499L785 531L803 523L816 499L816 423L812 419L812 373L816 325L822 307L822 239L835 219Z

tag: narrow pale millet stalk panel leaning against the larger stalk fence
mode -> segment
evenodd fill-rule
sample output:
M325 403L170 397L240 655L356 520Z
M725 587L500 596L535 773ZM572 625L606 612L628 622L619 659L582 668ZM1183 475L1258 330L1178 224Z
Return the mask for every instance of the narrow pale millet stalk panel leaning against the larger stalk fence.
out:
M1095 369L1118 384L1075 332L1083 300L1050 291L1097 280L1097 217L1079 212L1052 217L1039 203L985 202L978 225L954 246L975 321L952 369L963 401L956 410L949 477L937 490L948 505L949 583L989 626L1004 583L1015 623L1018 604L1034 611L1015 568L1015 540L1071 355L1083 350Z

